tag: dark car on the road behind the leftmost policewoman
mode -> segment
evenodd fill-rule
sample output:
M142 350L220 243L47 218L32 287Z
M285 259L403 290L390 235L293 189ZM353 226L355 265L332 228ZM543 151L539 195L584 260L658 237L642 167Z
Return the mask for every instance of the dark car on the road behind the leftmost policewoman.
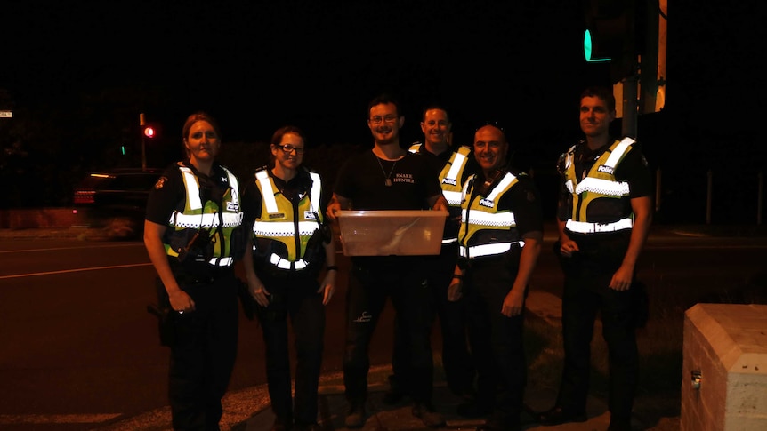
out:
M162 169L124 168L91 172L75 188L73 204L90 227L114 238L141 235L149 191Z

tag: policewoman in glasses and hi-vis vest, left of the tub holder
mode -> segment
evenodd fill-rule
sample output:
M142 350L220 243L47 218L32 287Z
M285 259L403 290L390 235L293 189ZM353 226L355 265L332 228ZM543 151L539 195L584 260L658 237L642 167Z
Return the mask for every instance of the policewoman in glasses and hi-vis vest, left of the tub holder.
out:
M245 226L252 227L243 260L249 291L259 304L273 431L319 430L319 371L325 308L335 290L335 247L325 223L322 181L302 165L301 129L285 126L271 139L272 167L255 172L243 193ZM327 264L322 283L320 269ZM287 318L297 355L291 395Z

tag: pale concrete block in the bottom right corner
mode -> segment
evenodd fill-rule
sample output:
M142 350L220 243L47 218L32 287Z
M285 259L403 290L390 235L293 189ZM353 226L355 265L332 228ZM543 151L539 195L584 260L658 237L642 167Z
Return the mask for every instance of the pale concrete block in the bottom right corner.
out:
M681 431L767 429L767 305L697 304L683 336Z

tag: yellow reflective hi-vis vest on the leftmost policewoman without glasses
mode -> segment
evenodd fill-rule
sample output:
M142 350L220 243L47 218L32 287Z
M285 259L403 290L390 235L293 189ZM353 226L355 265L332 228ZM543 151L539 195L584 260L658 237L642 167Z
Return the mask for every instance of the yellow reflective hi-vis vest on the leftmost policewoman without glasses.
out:
M230 267L234 264L231 250L231 233L242 224L242 212L239 207L239 185L237 177L228 169L221 166L226 173L226 178L222 178L229 184L229 188L222 199L223 208L213 201L202 202L199 193L199 179L192 170L182 164L179 164L179 171L182 172L184 188L186 188L186 204L183 212L174 211L168 220L168 226L174 228L171 234L180 241L171 241L171 243L187 243L199 229L209 231L214 243L213 258L207 263L217 267ZM218 228L222 226L221 234ZM169 243L166 243L166 253L168 256L178 256L179 251L174 250ZM224 247L222 250L222 246Z

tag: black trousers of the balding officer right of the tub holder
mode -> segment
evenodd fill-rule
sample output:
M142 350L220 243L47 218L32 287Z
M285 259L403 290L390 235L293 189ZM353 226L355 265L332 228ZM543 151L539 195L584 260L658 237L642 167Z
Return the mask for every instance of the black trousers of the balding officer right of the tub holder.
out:
M494 417L509 426L519 423L528 371L524 314L501 314L515 277L516 267L505 258L472 262L464 276L477 403L493 406Z

